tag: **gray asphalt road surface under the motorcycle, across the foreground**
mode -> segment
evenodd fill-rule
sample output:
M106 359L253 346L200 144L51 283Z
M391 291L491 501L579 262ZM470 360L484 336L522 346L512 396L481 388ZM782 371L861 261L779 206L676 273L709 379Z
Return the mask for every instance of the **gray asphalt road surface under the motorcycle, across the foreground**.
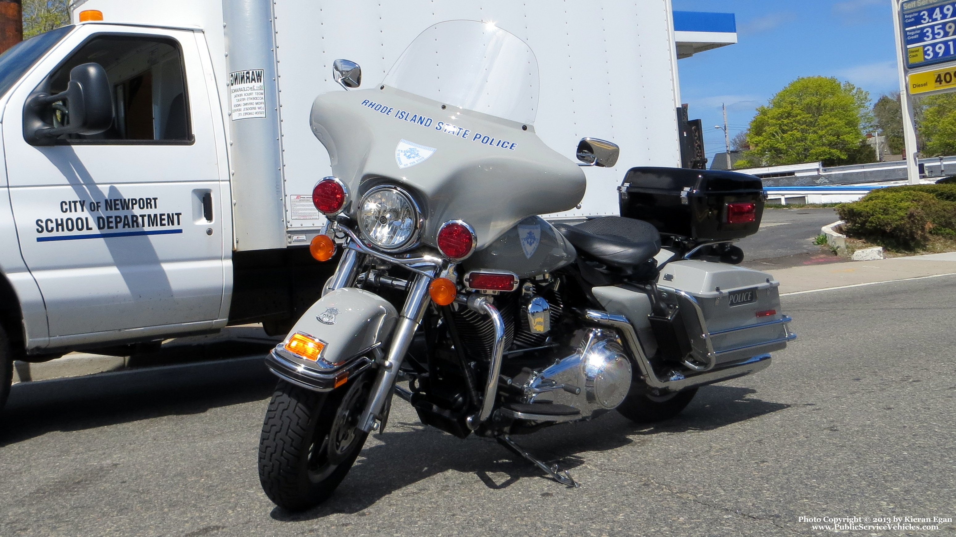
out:
M0 535L776 536L833 533L799 517L953 518L954 284L784 297L798 339L679 418L611 413L518 438L577 489L492 441L424 428L397 400L336 496L292 515L259 488L272 380L256 367L152 389L148 372L105 376L98 399L76 395L84 380L47 381L15 390L2 425ZM850 534L956 535L939 526Z

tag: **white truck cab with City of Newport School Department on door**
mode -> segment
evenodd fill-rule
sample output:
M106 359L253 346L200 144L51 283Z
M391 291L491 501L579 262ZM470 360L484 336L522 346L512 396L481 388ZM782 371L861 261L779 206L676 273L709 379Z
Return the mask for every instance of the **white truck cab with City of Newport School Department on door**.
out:
M228 126L201 29L69 25L12 48L0 73L7 376L11 358L230 322L281 333L294 296L317 298L333 265L284 233L234 256ZM84 128L91 98L107 103L106 128Z

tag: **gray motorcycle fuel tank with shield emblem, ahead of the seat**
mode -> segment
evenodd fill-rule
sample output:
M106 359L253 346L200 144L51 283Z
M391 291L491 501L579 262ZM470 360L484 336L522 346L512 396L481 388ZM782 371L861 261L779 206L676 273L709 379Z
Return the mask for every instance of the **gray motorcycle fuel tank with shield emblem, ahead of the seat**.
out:
M528 233L533 229L538 230L536 237L529 237ZM522 240L526 241L524 246ZM462 270L508 270L520 278L527 278L560 269L573 262L575 257L575 247L554 226L539 216L532 216L512 226L488 247L472 254L462 263Z

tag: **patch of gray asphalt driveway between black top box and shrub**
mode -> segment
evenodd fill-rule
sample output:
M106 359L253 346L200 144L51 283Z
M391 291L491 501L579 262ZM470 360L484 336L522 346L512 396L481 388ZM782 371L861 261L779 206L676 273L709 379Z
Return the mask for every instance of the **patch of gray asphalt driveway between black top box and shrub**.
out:
M737 246L744 250L744 265L755 269L818 262L821 251L814 240L820 234L820 227L837 220L839 217L833 208L767 209L760 230Z

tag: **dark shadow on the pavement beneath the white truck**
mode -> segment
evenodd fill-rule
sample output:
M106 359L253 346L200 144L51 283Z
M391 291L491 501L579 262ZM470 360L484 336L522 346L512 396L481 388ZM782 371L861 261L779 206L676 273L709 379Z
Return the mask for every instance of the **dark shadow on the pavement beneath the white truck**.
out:
M201 414L269 397L275 376L263 356L21 382L0 416L0 447L50 431L78 431Z

